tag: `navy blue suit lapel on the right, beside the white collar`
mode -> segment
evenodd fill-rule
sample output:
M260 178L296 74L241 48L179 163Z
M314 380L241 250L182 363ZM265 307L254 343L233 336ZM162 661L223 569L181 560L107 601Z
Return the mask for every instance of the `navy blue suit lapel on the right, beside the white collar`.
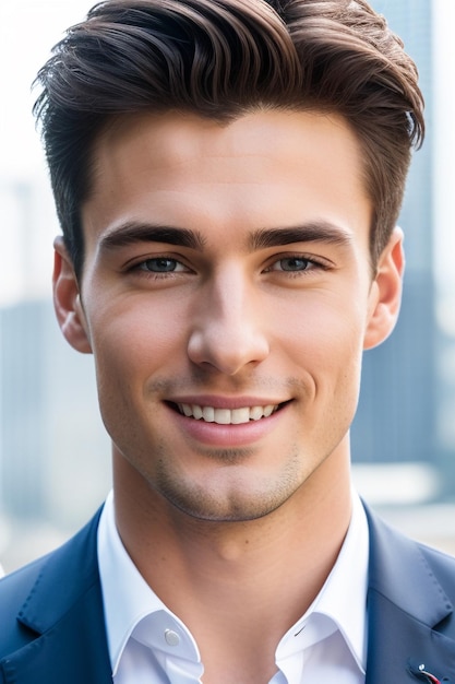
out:
M453 606L421 549L367 509L370 526L366 684L420 679L419 665L455 682L455 641L442 626ZM420 681L427 681L420 679Z

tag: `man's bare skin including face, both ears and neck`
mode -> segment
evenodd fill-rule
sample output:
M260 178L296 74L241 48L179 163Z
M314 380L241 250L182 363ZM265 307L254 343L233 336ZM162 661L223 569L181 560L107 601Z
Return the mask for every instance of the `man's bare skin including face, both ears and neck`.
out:
M403 271L396 231L372 278L361 158L336 115L124 117L95 148L81 283L56 240L56 310L95 357L120 534L195 634L204 682L268 681L349 523L362 351L393 329ZM218 425L182 403L278 410Z

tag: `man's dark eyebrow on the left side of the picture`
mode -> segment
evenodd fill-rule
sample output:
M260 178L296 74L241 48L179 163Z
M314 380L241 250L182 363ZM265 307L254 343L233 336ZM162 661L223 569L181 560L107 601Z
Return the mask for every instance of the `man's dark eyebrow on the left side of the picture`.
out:
M134 243L167 243L202 251L205 239L201 233L189 228L128 222L104 235L99 248L109 251Z

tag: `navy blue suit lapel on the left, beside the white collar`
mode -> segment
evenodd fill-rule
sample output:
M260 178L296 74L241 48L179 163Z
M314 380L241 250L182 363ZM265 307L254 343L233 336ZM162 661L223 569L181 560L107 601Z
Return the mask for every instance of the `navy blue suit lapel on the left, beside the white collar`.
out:
M19 621L36 638L3 662L7 683L111 684L99 585L99 514L51 554Z

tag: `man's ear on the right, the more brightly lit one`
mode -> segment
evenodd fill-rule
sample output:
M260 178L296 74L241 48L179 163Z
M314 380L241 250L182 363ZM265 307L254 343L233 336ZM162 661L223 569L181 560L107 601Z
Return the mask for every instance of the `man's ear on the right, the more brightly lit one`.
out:
M403 231L398 227L391 235L379 262L370 290L370 310L363 339L363 349L381 344L393 331L402 304L405 255Z

